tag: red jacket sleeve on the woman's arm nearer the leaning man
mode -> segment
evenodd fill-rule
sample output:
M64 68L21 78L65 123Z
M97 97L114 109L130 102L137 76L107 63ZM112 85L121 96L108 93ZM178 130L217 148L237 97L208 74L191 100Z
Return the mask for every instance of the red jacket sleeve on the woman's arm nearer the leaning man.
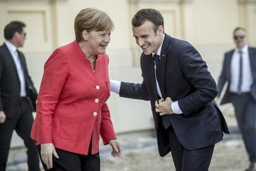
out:
M108 105L106 103L104 103L101 108L100 135L104 145L108 144L109 140L116 140L116 133L114 132Z

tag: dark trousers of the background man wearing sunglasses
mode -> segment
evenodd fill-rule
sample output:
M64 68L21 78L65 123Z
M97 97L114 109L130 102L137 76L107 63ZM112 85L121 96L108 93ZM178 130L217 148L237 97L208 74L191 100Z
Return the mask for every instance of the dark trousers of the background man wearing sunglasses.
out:
M250 93L231 93L237 123L251 162L256 162L256 103Z

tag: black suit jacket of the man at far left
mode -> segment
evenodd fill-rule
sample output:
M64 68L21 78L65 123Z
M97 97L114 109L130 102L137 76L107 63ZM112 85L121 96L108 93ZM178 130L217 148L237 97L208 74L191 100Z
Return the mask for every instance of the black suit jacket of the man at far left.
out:
M36 93L33 82L28 74L25 57L19 50L18 54L25 77L25 89L27 92L29 91L28 89L33 89ZM32 102L30 98L28 100ZM11 52L6 44L3 44L0 46L0 110L3 110L7 117L14 117L18 111L19 101L20 80L17 68Z

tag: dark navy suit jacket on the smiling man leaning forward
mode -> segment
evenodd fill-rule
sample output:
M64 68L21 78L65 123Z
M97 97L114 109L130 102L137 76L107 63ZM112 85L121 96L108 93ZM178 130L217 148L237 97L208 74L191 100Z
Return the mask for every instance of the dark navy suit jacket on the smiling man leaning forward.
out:
M174 132L187 149L198 149L214 145L228 133L220 109L213 101L217 95L216 84L202 57L189 42L164 36L161 49L160 87L164 98L178 101L182 114L171 114L169 122ZM162 117L155 111L155 70L152 55L141 56L142 84L121 82L120 96L150 100L155 121L158 150L161 156L169 153L168 130L164 129Z

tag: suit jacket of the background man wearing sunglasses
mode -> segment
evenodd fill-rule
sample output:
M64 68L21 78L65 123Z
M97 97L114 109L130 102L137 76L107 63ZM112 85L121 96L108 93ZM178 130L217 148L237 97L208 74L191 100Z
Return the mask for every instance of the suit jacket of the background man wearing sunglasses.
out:
M253 83L250 87L250 93L254 98L254 100L256 101L256 48L249 47L248 52L249 52L250 68L252 70L252 79L253 79ZM226 82L228 83L228 86L223 95L223 98L221 99L221 102L220 102L221 105L231 102L229 99L230 97L229 85L231 82L231 61L232 61L233 54L234 54L234 49L224 54L223 68L221 71L220 78L218 80L219 93L217 96L220 97L224 84Z

